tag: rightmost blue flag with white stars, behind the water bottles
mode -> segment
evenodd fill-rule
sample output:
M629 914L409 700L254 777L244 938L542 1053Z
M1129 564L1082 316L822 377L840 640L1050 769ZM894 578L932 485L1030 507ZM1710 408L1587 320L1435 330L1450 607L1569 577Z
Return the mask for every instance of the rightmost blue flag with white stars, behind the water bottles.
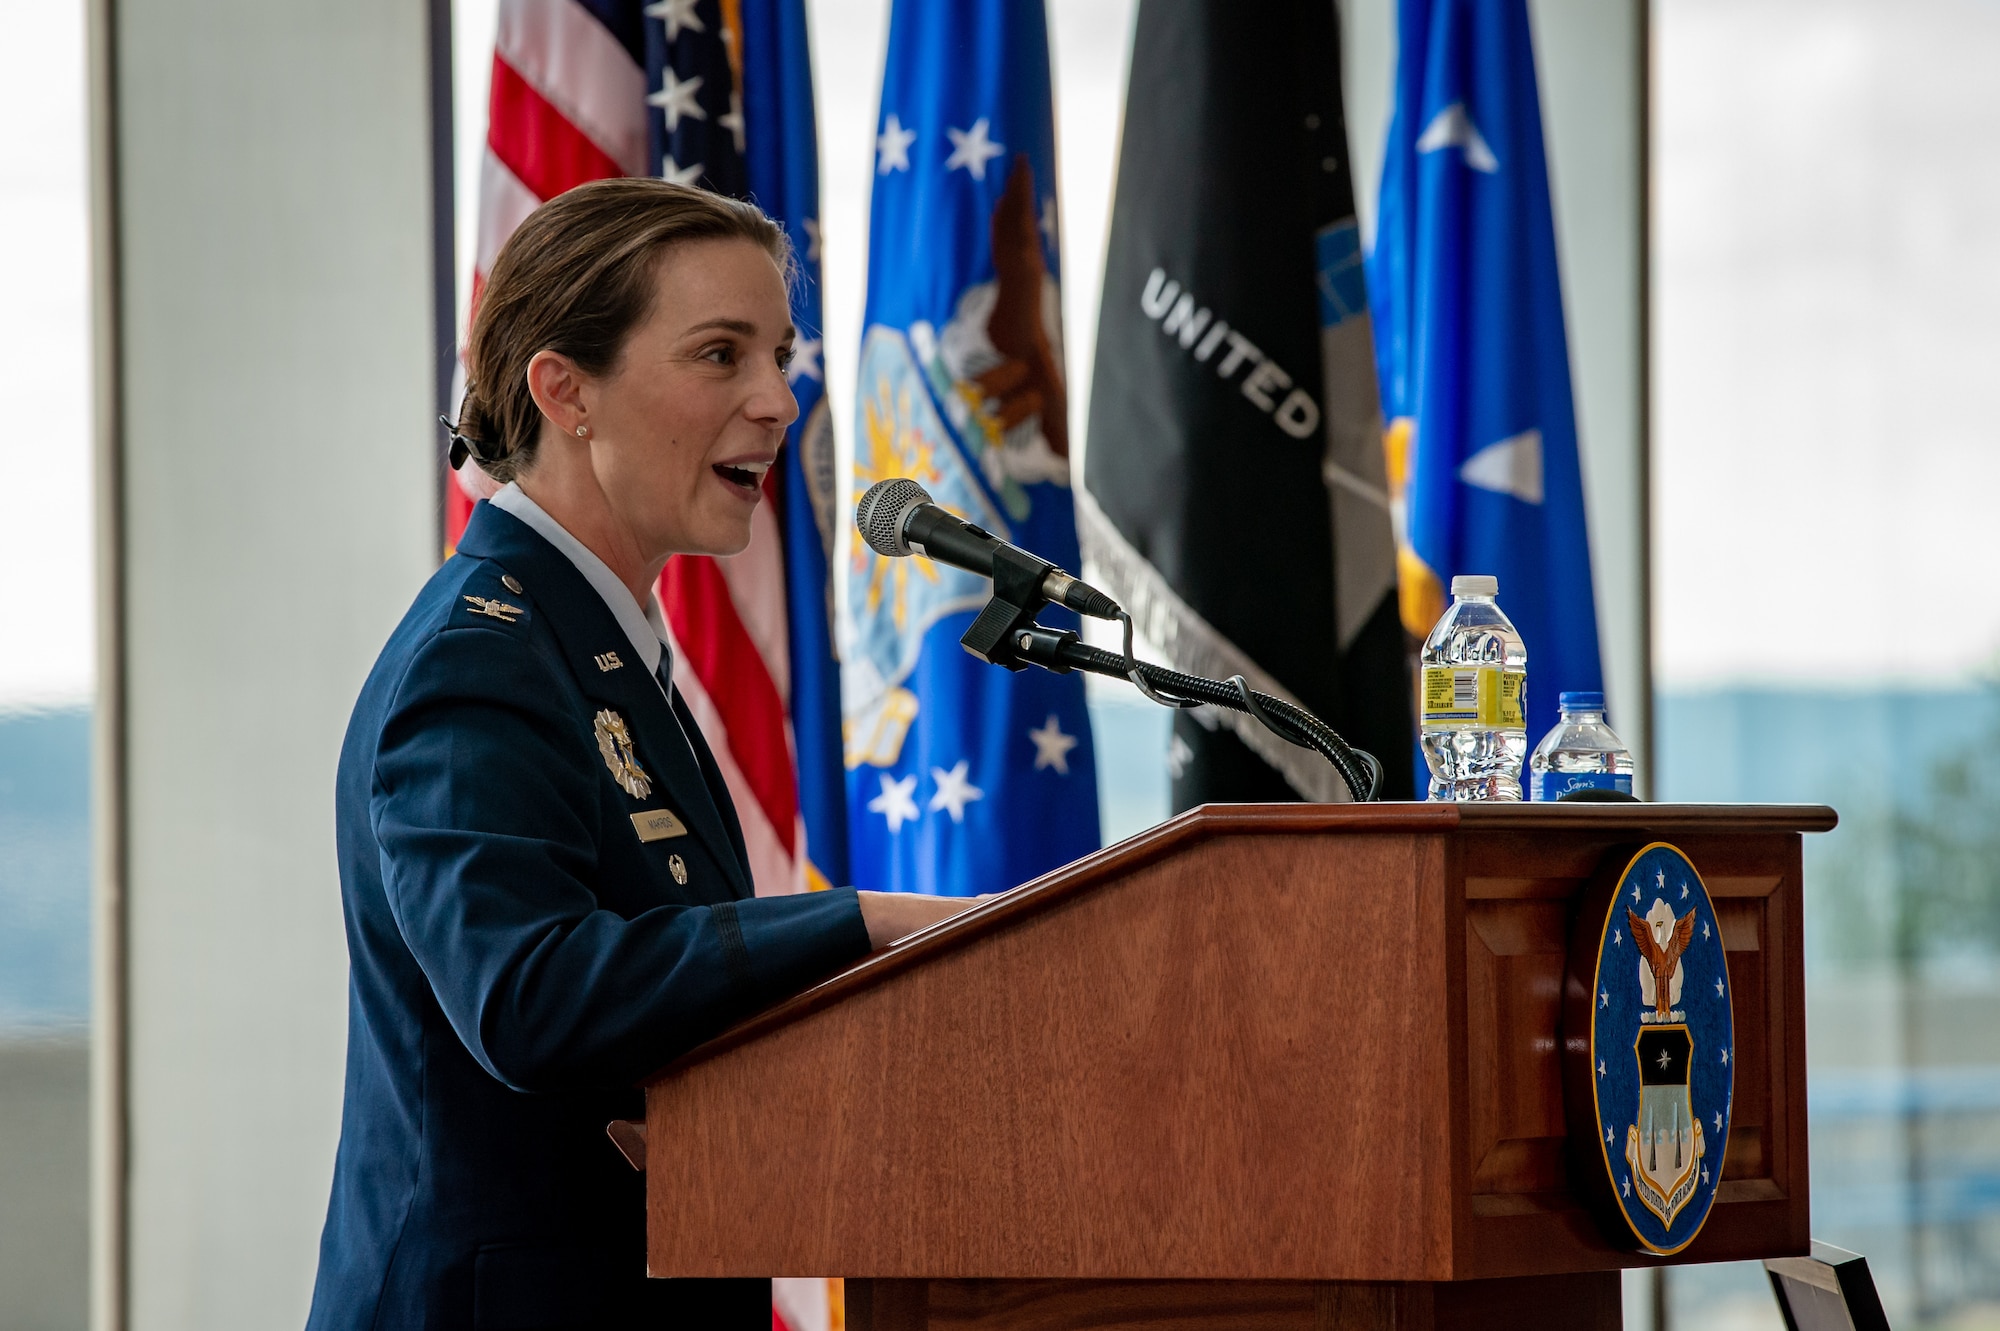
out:
M1534 739L1604 683L1528 4L1402 0L1396 32L1368 292L1402 622L1428 634L1454 576L1496 576Z

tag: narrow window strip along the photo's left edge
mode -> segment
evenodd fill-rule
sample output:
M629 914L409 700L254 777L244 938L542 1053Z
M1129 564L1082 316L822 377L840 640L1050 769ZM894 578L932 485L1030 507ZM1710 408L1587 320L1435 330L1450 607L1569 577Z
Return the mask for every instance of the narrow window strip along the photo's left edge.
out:
M0 1325L84 1325L90 204L84 6L10 14L0 118Z

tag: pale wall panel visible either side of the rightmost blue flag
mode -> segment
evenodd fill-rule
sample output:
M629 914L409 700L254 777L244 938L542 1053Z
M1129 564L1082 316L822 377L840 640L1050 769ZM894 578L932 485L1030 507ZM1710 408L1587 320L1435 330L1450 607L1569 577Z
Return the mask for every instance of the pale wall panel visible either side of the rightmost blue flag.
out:
M1342 0L1340 8L1348 140L1356 154L1362 236L1372 244L1396 68L1396 4ZM1652 711L1644 522L1646 0L1530 0L1528 12L1556 206L1604 691L1612 727L1632 745L1644 773Z

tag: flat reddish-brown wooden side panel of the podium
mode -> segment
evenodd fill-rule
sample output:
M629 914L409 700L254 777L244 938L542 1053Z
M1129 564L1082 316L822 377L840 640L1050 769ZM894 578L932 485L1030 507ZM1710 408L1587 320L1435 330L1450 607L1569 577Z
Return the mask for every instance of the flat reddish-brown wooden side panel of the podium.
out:
M1438 849L1196 841L656 1081L652 1269L1446 1277Z

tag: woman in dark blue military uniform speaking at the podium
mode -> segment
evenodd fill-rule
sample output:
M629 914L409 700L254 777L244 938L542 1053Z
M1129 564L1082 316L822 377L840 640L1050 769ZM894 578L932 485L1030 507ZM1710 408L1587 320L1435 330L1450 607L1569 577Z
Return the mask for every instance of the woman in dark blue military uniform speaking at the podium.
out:
M452 460L504 486L340 755L352 979L316 1331L766 1329L768 1281L646 1279L606 1123L730 1021L966 905L754 897L670 685L660 570L750 542L798 416L788 266L756 208L660 180L572 190L494 262Z

